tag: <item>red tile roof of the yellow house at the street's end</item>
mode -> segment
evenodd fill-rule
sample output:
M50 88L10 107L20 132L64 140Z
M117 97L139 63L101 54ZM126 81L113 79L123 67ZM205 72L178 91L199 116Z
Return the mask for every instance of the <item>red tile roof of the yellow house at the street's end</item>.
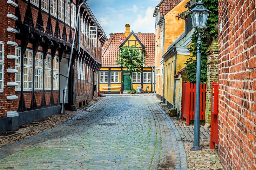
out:
M155 34L153 33L136 33L141 42L146 46L145 56L146 56L146 66L153 67L155 60ZM120 41L121 38L121 41ZM124 33L115 33L109 38L103 45L103 57L102 66L120 66L116 64L117 54L119 52L119 46L126 39Z

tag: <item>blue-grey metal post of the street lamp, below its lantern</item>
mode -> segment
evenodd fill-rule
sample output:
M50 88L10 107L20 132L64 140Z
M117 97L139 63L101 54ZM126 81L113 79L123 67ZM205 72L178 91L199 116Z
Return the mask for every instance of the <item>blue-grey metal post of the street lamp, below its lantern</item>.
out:
M191 150L201 150L200 148L200 82L201 82L201 43L202 33L197 30L197 61L196 61L196 101L195 101L195 121L194 121L194 145Z

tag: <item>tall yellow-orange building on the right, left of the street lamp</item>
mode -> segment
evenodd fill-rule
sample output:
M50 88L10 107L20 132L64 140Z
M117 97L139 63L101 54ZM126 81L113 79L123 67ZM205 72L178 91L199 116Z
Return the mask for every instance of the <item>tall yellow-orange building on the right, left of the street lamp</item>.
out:
M190 56L187 47L178 49L178 51L186 49L186 52L177 54L174 46L191 29L191 20L181 19L179 15L187 10L189 2L189 0L162 0L154 11L154 17L156 17L156 97L165 102L168 108L174 106L174 75L185 67L184 63Z

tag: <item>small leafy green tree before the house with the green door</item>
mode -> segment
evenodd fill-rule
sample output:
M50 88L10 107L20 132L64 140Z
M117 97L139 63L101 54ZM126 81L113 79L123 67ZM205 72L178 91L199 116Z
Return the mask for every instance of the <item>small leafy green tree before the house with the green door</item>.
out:
M120 47L120 53L117 55L116 63L130 72L131 89L133 89L133 72L142 73L142 67L146 65L143 51L135 46L124 46Z

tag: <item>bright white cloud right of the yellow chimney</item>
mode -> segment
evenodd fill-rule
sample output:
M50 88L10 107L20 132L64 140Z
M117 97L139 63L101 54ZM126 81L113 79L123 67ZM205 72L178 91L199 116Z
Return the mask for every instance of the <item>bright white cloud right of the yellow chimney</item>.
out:
M155 32L155 17L153 17L154 9L154 7L148 7L144 14L137 15L137 19L131 25L135 32Z

